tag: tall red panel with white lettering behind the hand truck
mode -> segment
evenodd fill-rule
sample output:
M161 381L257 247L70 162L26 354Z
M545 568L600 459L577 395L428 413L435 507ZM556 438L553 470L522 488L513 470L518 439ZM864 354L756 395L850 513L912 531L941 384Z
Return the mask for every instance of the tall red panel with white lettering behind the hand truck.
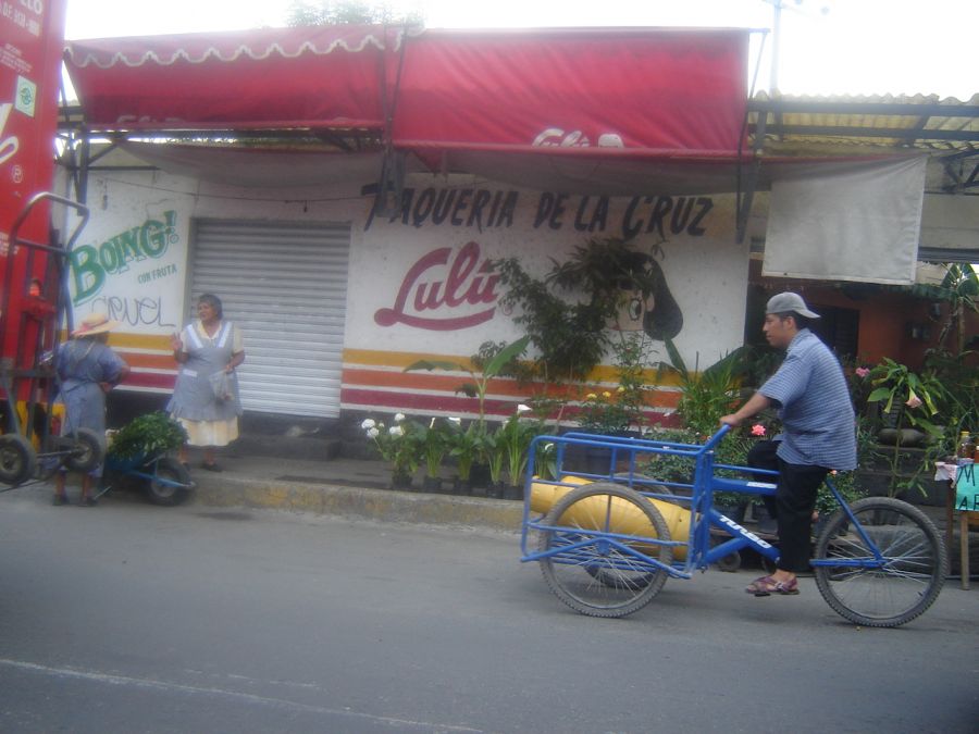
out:
M4 357L15 353L20 314L28 297L25 248L12 248L11 228L33 196L51 189L54 177L65 2L0 0L0 309L4 311L0 345ZM17 236L47 244L49 216L47 204L37 207ZM32 274L42 273L44 257L38 253L34 260Z

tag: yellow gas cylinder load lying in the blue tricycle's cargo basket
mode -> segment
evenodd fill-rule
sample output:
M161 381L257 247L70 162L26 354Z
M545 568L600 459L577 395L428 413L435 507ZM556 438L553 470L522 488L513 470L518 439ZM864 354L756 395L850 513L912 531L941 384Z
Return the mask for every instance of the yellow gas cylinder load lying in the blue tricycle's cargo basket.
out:
M561 478L566 485L544 484L534 482L531 484L531 510L546 513L569 492L573 492L579 486L591 484L591 480L580 476L565 476ZM662 519L666 521L670 531L671 540L680 540L685 543L690 537L690 509L680 505L672 505L659 499L649 497L644 498L647 502L652 502ZM579 527L598 530L605 522L606 512L609 513L609 530L623 535L637 535L655 537L656 532L649 523L649 519L632 502L625 501L618 497L611 498L611 509L608 509L608 500L600 496L590 497L580 502L575 502L562 517L566 523L574 523ZM673 548L673 558L683 560L686 558L686 549L682 547Z

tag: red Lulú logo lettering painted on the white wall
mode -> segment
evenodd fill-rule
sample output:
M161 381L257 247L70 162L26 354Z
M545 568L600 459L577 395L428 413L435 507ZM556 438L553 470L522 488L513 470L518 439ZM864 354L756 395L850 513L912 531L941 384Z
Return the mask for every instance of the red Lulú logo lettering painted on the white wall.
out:
M482 258L479 244L467 242L455 254L453 248L441 247L408 269L394 304L377 309L374 322L435 332L476 326L496 311L498 279L490 260Z

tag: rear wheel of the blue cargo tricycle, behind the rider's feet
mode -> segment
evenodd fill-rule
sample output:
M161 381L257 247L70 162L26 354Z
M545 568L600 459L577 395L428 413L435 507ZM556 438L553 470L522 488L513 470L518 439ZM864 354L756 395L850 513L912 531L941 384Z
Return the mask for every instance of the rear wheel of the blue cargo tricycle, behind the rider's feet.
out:
M896 627L921 614L945 583L947 559L938 528L918 508L897 499L868 497L851 506L869 545L842 510L816 542L816 585L827 604L851 622ZM883 562L873 561L873 549Z

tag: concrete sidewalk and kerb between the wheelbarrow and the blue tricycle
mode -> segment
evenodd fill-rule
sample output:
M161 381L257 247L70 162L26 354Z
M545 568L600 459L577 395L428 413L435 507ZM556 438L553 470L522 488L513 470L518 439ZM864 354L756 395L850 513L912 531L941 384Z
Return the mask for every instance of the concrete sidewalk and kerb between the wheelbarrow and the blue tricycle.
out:
M228 450L218 459L224 471L210 472L200 466L199 457L191 453L191 459L197 488L189 501L198 505L520 531L522 502L393 490L391 469L382 461L313 461Z

